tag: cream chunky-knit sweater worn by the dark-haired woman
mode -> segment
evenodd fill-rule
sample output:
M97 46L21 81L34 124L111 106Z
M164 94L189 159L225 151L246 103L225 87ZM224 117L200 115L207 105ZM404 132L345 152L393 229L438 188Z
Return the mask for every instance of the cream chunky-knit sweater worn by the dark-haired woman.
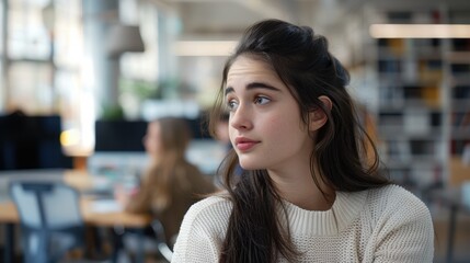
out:
M311 211L287 203L297 262L432 262L429 210L406 190L389 185L337 192L331 209ZM187 211L172 262L218 262L231 203L211 196ZM280 261L286 262L286 261Z

